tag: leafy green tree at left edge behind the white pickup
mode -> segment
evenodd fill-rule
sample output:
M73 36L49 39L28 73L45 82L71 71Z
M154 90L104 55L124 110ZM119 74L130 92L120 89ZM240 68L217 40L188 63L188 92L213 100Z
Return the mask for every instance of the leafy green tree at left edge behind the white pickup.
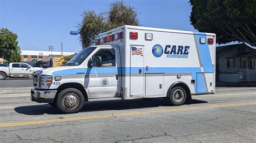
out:
M0 55L8 62L21 62L21 48L18 46L17 34L8 28L0 30Z

